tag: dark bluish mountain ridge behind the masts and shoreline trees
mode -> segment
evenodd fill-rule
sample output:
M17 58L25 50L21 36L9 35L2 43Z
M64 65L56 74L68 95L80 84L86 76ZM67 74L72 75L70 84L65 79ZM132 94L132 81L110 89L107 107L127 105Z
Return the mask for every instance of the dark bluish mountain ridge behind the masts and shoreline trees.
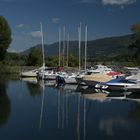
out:
M113 36L106 37L96 40L89 40L87 42L87 54L88 57L98 57L98 56L117 56L120 54L125 54L129 52L128 46L132 41L132 34L123 36ZM81 41L81 56L84 56L84 45L85 42ZM44 45L45 57L58 56L58 42ZM41 44L35 45L23 52L20 55L28 55L32 48L41 49ZM63 48L63 42L61 42L61 51ZM66 47L65 47L66 48ZM65 50L66 51L66 50ZM69 54L73 54L78 57L78 41L69 42Z

